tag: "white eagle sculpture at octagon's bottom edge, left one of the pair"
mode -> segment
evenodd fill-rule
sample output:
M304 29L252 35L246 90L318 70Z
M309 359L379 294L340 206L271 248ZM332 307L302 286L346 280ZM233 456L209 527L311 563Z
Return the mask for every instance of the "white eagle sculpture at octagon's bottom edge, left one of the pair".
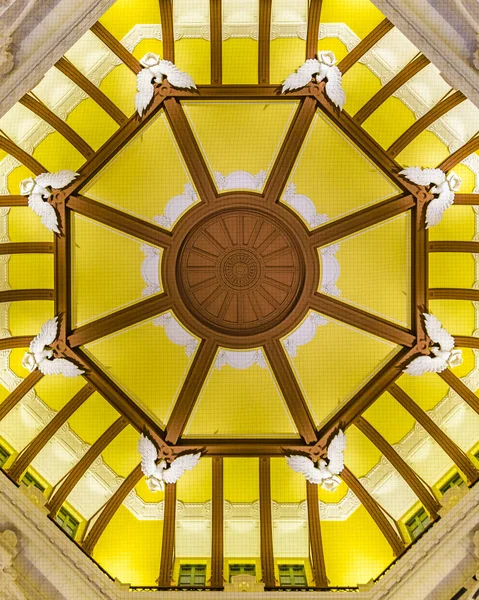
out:
M168 467L166 460L158 461L158 450L155 444L143 433L138 440L138 452L141 454L141 470L146 476L146 484L152 492L163 491L165 483L175 483L185 471L196 467L201 452L183 454Z

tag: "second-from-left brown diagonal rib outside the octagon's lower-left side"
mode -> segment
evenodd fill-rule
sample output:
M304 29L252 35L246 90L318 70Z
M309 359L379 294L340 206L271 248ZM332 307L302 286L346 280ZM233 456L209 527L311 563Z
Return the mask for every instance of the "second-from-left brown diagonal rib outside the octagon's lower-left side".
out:
M95 389L87 384L57 412L53 419L40 431L40 433L26 446L8 469L8 474L13 481L18 482L23 472L32 464L35 457L45 447L47 442L57 433L62 425L77 411L80 406L93 394Z

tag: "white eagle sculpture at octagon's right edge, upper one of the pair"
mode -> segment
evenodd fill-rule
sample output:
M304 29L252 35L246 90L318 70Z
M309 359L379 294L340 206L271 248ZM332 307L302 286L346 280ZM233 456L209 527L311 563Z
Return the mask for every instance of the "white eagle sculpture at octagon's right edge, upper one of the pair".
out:
M399 172L406 179L417 185L432 185L429 190L434 194L426 209L426 229L437 225L446 208L454 204L455 192L461 187L461 180L455 173L446 175L441 169L422 169L421 167L408 167Z

